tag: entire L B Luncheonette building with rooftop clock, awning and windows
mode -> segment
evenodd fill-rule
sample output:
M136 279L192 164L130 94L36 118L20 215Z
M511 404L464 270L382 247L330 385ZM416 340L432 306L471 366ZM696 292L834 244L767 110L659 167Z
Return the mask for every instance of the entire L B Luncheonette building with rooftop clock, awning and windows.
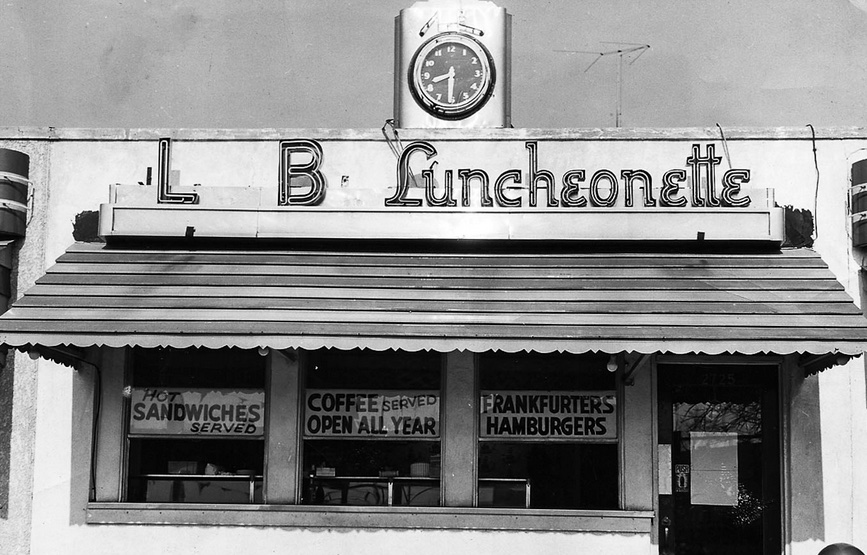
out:
M867 544L867 134L512 129L508 16L430 9L382 129L3 131L3 537Z

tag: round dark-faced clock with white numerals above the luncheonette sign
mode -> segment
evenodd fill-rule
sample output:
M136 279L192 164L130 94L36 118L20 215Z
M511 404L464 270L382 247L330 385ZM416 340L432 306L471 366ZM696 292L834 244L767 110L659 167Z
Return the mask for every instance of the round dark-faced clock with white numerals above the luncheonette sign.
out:
M494 66L487 49L472 37L443 33L418 49L409 80L425 110L437 117L461 119L490 97Z

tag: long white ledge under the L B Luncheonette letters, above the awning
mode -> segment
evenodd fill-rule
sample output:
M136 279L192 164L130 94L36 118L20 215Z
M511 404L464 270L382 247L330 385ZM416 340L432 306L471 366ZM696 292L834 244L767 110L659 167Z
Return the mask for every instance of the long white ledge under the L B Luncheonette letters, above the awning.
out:
M666 225L656 225L664 215ZM100 207L111 237L292 239L497 239L568 241L770 241L782 209L336 210L195 205Z

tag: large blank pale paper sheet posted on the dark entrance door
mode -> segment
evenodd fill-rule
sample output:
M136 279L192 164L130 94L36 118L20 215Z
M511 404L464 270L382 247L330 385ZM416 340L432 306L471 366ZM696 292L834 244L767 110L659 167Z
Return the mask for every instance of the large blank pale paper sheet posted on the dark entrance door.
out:
M693 505L738 504L738 434L690 432Z

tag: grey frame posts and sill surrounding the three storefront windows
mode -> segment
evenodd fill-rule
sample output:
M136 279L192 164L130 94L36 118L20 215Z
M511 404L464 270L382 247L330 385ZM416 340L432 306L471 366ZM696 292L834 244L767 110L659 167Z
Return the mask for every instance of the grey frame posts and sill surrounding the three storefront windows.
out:
M479 423L478 356L468 351L440 353L442 379L442 450L443 479L440 507L364 507L300 505L303 468L290 461L300 460L302 368L304 351L274 351L267 353L266 366L266 428L265 484L262 505L205 505L129 503L124 499L125 480L125 415L124 398L117 392L126 383L131 356L127 348L101 348L99 367L89 380L78 380L79 392L99 396L99 414L95 426L83 427L73 434L90 445L93 431L97 433L94 461L81 464L90 467L94 483L92 492L82 499L85 522L88 524L149 523L165 525L254 525L304 526L322 528L373 529L456 529L456 530L561 530L571 532L650 533L653 518L650 487L644 492L647 500L624 504L617 510L560 509L497 509L478 508L477 460ZM122 369L123 371L119 371ZM649 373L648 373L649 374ZM467 387L468 380L472 387ZM642 383L645 380L636 380ZM649 402L649 376L646 380ZM97 385L98 384L98 385ZM620 451L628 443L624 428L624 408L628 400L618 384L618 441ZM277 393L277 392L282 393ZM455 394L459 392L460 394ZM642 393L644 395L644 393ZM272 402L279 397L281 402ZM648 420L647 414L642 416ZM90 433L89 433L90 432ZM637 433L644 433L637 430ZM81 451L81 450L79 450ZM649 467L649 453L643 457ZM621 455L621 461L623 460ZM468 466L469 463L469 466ZM467 472L467 468L471 471ZM449 470L451 469L451 470ZM650 470L648 470L649 472ZM626 479L622 462L621 483ZM619 492L621 500L624 488ZM631 506L630 506L631 505Z

